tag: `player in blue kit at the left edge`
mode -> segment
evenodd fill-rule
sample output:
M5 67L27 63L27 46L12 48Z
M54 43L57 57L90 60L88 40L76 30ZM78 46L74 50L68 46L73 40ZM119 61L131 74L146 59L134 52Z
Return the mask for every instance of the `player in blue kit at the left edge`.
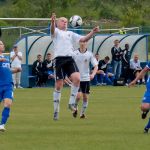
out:
M0 103L3 101L3 111L0 122L0 131L5 131L5 124L10 115L10 107L13 100L12 72L17 73L21 69L10 70L10 62L3 55L4 44L0 41Z

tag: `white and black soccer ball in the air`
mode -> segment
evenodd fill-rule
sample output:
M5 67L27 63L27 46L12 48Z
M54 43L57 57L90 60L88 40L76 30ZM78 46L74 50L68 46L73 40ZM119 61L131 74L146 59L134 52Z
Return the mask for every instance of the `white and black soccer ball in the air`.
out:
M78 28L82 25L82 18L78 15L74 15L70 18L69 24L73 28Z

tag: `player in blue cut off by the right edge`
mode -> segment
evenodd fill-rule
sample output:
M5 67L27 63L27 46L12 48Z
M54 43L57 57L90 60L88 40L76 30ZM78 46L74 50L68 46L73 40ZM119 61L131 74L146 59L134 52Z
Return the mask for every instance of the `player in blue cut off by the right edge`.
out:
M145 68L138 74L138 76L129 84L129 87L135 85L139 79L142 79L147 73L150 71L150 62L145 66ZM142 104L141 104L141 110L142 110L142 119L145 119L147 117L147 114L150 110L150 76L147 79L146 82L146 91L143 96ZM148 133L148 130L150 129L150 118L147 123L147 125L144 128L144 132Z

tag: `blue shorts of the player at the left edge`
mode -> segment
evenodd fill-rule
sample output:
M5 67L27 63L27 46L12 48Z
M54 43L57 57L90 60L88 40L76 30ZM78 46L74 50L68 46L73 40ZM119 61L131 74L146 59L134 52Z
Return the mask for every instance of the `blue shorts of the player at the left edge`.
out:
M13 85L0 86L0 102L5 98L13 100Z

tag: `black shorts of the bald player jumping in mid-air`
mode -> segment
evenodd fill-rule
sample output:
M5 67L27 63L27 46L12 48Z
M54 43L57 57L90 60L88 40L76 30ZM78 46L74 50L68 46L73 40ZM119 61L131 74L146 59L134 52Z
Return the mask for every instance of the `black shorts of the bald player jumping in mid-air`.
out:
M56 57L53 61L53 65L56 80L65 79L66 75L70 77L72 73L79 72L74 59L70 56Z

